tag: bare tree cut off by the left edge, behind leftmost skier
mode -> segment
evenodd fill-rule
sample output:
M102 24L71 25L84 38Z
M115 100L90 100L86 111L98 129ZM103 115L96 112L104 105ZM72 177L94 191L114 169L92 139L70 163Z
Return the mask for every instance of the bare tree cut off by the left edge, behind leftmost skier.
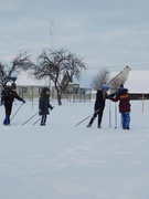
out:
M26 51L20 51L19 54L11 61L10 65L4 65L0 62L0 84L6 85L9 81L15 81L14 73L21 70L28 70L33 66L31 56Z

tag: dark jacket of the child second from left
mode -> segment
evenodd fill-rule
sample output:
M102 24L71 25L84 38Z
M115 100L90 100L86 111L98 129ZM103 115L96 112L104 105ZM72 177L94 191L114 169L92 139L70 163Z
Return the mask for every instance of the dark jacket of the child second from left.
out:
M45 93L41 93L40 100L39 100L39 114L40 115L46 115L50 114L49 108L53 108L50 104L50 95Z

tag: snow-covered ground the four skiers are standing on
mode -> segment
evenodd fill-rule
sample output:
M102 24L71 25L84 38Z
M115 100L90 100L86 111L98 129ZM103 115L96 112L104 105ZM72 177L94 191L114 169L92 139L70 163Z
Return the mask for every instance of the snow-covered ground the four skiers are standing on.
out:
M120 128L119 113L115 128L113 102L106 102L102 129L97 121L86 128L89 118L74 127L93 113L94 101L51 104L46 126L32 126L38 115L22 126L38 102L26 102L10 126L2 125L0 107L1 199L149 199L148 101L143 108L131 102L130 130Z

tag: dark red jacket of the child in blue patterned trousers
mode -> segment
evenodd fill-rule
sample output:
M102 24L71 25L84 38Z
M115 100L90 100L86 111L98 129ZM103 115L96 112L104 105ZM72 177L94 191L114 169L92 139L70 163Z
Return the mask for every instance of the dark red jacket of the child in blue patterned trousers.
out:
M125 92L117 95L114 98L110 98L113 102L119 101L119 113L128 113L130 112L130 95L129 93Z

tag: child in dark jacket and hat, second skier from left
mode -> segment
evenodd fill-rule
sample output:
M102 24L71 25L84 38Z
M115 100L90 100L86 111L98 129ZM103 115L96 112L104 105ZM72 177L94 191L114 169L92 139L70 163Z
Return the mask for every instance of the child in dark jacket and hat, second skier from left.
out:
M50 93L49 88L44 87L41 92L41 96L39 100L39 115L41 118L41 126L45 126L47 114L50 114L49 108L53 109L53 106L50 104Z

